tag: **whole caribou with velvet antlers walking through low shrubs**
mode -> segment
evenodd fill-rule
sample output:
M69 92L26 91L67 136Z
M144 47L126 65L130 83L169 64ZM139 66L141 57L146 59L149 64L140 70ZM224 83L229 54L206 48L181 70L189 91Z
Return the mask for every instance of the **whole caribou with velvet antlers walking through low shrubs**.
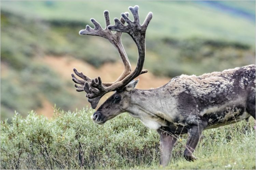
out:
M200 76L183 74L158 88L136 89L139 79L134 79L147 72L143 70L145 34L153 14L148 13L141 25L139 6L129 7L129 10L133 21L126 12L121 14L120 20L114 19L115 25L110 25L109 12L104 11L105 29L92 18L95 28L87 25L79 32L80 35L101 36L109 40L124 64L124 71L115 82L102 82L101 77L91 79L73 69L82 79L71 74L76 91L86 92L92 108L97 107L103 95L114 91L91 116L95 123L104 124L124 112L140 119L160 135L160 165L166 166L178 135L188 134L184 157L193 161L197 159L193 152L203 130L248 120L250 116L255 119L255 65ZM123 32L132 37L138 48L137 66L133 71L121 42Z

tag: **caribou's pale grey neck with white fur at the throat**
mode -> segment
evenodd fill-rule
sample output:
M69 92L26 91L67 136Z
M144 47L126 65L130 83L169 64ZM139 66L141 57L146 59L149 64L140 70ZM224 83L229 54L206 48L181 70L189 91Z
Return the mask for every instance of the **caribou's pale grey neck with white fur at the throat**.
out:
M149 90L132 90L126 112L134 118L139 118L151 129L167 126L168 122L174 121L176 102L174 97L171 94L166 95L165 91L165 86Z

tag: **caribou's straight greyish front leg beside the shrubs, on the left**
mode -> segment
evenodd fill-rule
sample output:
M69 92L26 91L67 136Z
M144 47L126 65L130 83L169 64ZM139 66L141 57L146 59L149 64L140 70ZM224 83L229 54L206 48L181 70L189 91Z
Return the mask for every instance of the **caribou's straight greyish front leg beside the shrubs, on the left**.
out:
M160 151L161 151L160 165L165 167L170 162L171 155L172 155L172 148L177 140L177 137L174 135L171 136L170 134L166 133L162 129L158 129L157 132L160 135Z

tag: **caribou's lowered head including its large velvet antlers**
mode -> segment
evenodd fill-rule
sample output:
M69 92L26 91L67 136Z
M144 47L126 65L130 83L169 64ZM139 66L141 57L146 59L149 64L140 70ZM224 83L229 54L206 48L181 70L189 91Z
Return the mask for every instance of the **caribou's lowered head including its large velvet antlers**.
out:
M84 75L82 72L78 72L75 68L74 73L83 80L77 79L72 74L72 80L75 84L76 91L85 91L88 102L90 102L92 108L96 108L100 98L108 92L116 91L110 98L108 98L99 109L91 116L93 121L98 124L103 124L107 120L110 120L118 114L124 112L129 105L130 93L133 90L139 80L134 81L140 74L146 73L147 70L143 70L143 63L145 60L145 33L147 26L152 19L152 13L148 13L144 23L140 24L139 19L139 6L129 7L134 20L131 21L128 16L129 13L122 13L120 20L115 18L115 25L110 25L109 12L104 11L104 18L106 27L103 29L101 25L95 20L91 19L95 28L86 26L85 30L79 32L80 35L94 35L101 36L110 41L111 44L118 50L119 56L124 64L124 71L120 77L113 83L102 82L101 78L91 79ZM124 25L125 22L127 25ZM116 31L112 33L111 31ZM121 42L122 32L128 33L138 48L138 61L137 67L131 71L131 65L128 60L127 54Z

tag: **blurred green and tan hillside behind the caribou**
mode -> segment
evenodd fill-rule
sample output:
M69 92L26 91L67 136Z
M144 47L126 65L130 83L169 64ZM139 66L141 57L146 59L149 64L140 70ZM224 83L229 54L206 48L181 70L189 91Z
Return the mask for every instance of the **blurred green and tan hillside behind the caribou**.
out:
M93 27L90 18L104 27L104 10L113 24L134 5L141 20L153 12L144 64L149 73L138 88L255 64L255 1L1 1L1 119L31 109L51 116L54 104L86 106L85 94L73 87L72 68L114 81L123 66L107 40L78 32ZM136 65L135 44L126 34L122 40Z

